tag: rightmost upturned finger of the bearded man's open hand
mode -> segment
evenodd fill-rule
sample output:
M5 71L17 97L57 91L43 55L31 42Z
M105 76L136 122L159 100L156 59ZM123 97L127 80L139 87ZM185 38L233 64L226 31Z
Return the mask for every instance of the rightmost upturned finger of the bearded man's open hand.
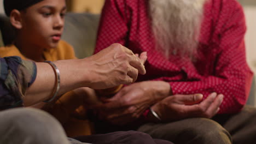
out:
M223 94L217 95L216 99L214 99L213 103L206 110L206 114L209 116L208 118L213 117L219 111L219 106L222 104L223 97Z

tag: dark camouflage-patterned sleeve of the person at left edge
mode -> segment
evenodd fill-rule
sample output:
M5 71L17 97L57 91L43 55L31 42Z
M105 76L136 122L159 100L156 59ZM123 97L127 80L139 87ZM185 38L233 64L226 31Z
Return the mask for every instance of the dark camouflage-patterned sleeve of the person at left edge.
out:
M34 62L16 56L0 58L0 110L23 106L22 99L36 75Z

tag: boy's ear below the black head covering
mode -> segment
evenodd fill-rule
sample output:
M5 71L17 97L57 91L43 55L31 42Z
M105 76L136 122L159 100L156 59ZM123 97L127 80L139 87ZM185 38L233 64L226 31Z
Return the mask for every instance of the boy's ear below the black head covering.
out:
M10 13L10 22L11 25L13 25L17 29L22 28L22 19L21 19L21 13L19 10L12 10Z

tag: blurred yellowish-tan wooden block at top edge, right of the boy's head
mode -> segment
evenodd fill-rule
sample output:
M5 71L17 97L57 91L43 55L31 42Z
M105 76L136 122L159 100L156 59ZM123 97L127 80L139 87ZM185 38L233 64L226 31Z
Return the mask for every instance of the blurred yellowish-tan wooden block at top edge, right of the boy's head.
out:
M104 0L67 0L68 11L100 14Z

